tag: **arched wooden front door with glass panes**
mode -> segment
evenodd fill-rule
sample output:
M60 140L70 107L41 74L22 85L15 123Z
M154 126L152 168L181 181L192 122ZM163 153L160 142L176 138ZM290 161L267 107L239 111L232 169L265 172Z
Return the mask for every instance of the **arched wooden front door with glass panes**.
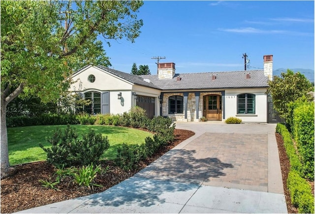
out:
M203 96L203 116L207 120L222 120L222 96L211 94Z

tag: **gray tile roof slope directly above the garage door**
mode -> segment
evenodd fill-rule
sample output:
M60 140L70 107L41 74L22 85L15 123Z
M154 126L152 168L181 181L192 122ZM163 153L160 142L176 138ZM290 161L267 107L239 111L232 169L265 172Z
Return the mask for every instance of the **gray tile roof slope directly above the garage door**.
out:
M149 82L144 81L141 76L133 75L131 73L125 73L122 71L117 71L114 69L106 68L104 66L96 66L96 67L98 67L104 71L110 72L116 76L119 76L119 77L121 77L121 78L123 78L129 82L136 84L136 85L142 85L142 86L146 86L146 87L150 87L150 88L161 89L158 86L154 85L152 82L149 83Z

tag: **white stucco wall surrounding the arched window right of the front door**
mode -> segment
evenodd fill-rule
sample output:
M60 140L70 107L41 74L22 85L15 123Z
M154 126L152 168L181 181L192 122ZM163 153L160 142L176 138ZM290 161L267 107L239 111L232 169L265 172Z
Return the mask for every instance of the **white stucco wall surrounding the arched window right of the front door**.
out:
M267 122L267 95L265 88L225 90L225 119L238 117L242 122ZM255 114L237 114L237 95L251 93L255 96Z

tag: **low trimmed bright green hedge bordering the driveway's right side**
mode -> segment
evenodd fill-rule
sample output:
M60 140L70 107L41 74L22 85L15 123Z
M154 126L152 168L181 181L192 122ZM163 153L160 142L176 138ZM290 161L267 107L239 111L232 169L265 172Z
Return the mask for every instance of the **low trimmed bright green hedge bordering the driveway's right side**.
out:
M293 206L299 213L314 213L314 196L310 184L301 177L302 164L296 154L291 135L283 124L277 124L276 132L284 140L286 154L290 160L290 172L287 178L287 188L291 194Z

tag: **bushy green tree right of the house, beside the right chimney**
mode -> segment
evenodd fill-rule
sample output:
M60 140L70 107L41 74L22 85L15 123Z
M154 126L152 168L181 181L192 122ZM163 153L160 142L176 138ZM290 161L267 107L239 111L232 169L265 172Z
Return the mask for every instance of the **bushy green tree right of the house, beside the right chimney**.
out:
M279 111L280 116L284 119L286 119L288 113L287 104L314 91L312 83L303 74L300 72L294 73L289 69L282 72L281 76L274 76L268 84L269 88L266 93L271 94L274 108Z

